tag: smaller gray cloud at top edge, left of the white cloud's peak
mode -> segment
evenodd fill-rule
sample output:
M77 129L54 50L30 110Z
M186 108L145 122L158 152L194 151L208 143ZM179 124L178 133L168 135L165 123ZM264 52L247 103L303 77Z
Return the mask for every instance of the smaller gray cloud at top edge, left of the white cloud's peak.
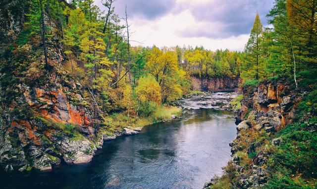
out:
M115 12L120 17L124 16L125 5L127 5L127 14L130 18L142 17L154 20L170 12L175 5L175 0L116 0L114 1Z

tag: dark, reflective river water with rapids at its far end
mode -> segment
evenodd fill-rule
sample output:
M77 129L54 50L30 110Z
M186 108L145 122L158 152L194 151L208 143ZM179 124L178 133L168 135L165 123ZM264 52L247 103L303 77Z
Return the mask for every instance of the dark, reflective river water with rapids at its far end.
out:
M89 164L49 173L1 172L0 189L202 189L222 173L236 136L232 112L198 108L212 106L217 99L210 96L182 100L182 118L105 142Z

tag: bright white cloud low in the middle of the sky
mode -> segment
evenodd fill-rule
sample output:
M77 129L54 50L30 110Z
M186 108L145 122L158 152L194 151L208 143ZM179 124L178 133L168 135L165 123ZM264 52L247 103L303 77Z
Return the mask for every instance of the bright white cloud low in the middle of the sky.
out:
M238 37L228 37L225 39L210 39L207 37L182 37L180 32L202 32L218 33L214 28L221 29L221 23L198 22L191 14L190 10L184 10L178 14L167 14L156 21L131 20L131 30L134 33L131 39L132 45L142 45L152 47L173 47L173 46L203 46L205 48L216 50L225 49L243 50L244 44L248 40L248 35Z

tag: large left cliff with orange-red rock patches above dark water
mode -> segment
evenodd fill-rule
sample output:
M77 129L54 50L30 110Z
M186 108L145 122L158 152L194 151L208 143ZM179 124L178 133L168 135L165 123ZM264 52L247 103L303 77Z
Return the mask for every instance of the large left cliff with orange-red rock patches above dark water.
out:
M23 171L89 162L103 144L96 134L100 118L93 100L62 69L65 55L57 25L47 39L51 70L44 68L40 40L21 47L14 43L23 28L26 2L0 2L0 165Z

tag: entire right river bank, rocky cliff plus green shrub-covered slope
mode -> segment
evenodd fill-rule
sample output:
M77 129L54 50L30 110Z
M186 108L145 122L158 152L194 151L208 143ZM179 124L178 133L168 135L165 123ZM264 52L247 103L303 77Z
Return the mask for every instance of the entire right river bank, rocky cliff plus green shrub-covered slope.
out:
M229 144L231 160L204 189L314 188L314 180L304 182L298 174L302 167L311 172L316 167L311 161L316 123L306 106L316 98L310 90L296 89L285 78L244 87L235 115L237 138Z

